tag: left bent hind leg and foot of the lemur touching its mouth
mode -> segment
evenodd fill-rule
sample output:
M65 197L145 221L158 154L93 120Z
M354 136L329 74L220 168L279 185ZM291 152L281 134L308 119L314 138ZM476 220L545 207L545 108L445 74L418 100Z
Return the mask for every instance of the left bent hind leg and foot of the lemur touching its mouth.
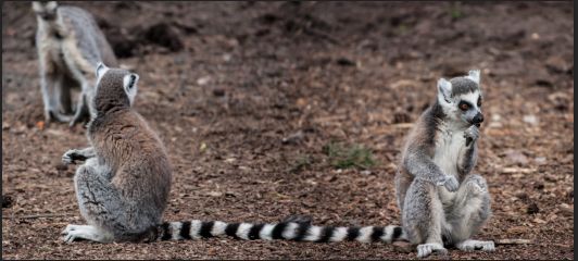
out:
M443 208L435 185L415 178L405 195L402 223L410 241L418 245L418 258L432 252L448 252L441 237L444 221Z

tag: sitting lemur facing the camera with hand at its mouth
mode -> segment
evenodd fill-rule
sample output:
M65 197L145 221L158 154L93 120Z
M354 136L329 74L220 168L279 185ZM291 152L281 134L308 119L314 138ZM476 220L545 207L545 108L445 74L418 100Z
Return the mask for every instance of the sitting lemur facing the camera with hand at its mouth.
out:
M470 174L477 161L481 114L479 71L438 82L437 101L407 136L395 176L403 231L418 257L462 250L494 250L472 240L491 214L483 177Z

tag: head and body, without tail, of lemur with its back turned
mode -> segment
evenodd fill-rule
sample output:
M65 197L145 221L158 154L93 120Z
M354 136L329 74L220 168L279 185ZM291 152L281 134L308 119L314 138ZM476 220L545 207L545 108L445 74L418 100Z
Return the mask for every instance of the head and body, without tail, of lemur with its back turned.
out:
M147 239L162 222L171 189L165 148L125 91L124 78L134 74L120 69L103 74L95 96L97 113L88 125L91 147L62 157L66 164L86 160L74 183L88 226L68 225L63 232L67 243Z

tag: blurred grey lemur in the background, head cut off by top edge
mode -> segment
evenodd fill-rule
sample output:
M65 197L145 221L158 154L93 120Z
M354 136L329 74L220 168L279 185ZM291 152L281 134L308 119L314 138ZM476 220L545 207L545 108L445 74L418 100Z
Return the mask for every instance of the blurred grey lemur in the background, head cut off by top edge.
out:
M116 58L92 15L83 9L59 7L56 2L33 2L38 29L40 88L45 120L68 122L90 119L97 63L116 66ZM73 109L71 89L80 87ZM74 114L73 114L74 113Z

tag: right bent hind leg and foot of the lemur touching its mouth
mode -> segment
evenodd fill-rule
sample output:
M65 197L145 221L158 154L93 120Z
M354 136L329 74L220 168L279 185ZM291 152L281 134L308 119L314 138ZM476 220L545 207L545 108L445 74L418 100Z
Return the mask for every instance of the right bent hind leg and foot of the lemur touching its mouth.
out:
M493 241L472 240L490 217L490 194L483 177L467 176L457 190L452 211L447 213L449 240L461 250L493 251Z

